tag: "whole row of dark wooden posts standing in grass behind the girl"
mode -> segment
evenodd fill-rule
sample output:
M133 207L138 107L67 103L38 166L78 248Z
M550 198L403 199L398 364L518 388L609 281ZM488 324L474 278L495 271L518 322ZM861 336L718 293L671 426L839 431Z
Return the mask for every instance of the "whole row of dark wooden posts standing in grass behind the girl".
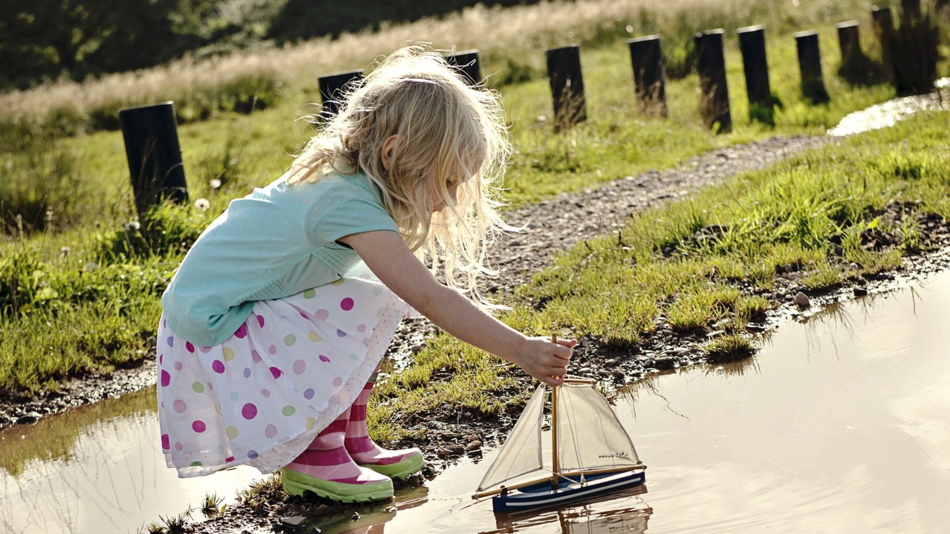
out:
M905 17L920 17L920 0L902 0L902 14ZM871 11L871 18L875 34L881 41L882 48L886 49L889 32L894 29L890 9L875 7ZM836 28L843 67L846 68L848 62L855 62L863 57L858 40L858 22L839 23ZM770 124L775 98L769 86L765 29L750 26L737 29L736 33L746 75L750 120ZM728 132L732 124L723 54L724 36L723 29L709 29L696 33L693 38L701 88L700 112L705 123L709 127L715 127L718 132ZM794 37L798 48L803 95L815 104L828 102L828 93L822 77L818 32L799 31ZM665 117L666 79L659 36L637 37L627 43L640 106L648 113ZM580 72L580 47L573 45L551 48L545 51L545 58L554 104L555 126L561 128L585 120L587 111ZM469 85L480 86L483 82L478 50L449 54L447 62L458 67ZM325 118L335 115L339 110L343 91L353 84L359 84L362 79L362 70L319 77L321 115ZM173 103L123 109L119 112L119 118L139 214L145 213L162 196L186 201L187 185Z

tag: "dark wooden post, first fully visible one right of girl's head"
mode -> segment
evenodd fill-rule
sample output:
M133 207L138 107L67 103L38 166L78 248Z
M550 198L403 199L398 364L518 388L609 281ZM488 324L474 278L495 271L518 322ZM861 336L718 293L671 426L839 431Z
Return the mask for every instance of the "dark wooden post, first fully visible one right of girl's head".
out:
M584 80L580 75L580 47L572 45L544 52L547 79L554 99L556 127L569 126L587 119Z

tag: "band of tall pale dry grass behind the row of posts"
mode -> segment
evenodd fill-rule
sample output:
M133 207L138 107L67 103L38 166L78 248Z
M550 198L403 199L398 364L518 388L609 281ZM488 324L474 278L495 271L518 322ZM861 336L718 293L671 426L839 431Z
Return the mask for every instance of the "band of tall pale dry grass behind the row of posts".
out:
M486 71L503 81L521 81L543 72L543 48L578 42L603 46L621 37L659 33L670 74L683 76L692 65L696 30L728 30L750 23L789 31L799 25L866 13L864 0L821 0L788 5L770 0L599 0L543 2L508 9L476 6L445 17L384 25L379 31L344 33L296 46L240 51L201 60L185 57L167 66L105 75L82 83L60 80L0 95L3 127L31 133L73 134L118 125L116 111L128 105L176 101L182 121L219 111L273 105L282 95L315 100L315 78L334 70L366 67L410 41L438 48L481 48ZM256 103L256 104L255 104Z

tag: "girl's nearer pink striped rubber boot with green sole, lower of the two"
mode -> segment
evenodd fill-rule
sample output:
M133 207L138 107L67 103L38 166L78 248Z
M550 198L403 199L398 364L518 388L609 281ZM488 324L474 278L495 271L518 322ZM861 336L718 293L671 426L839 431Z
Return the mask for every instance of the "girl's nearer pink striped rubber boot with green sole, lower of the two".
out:
M344 503L363 503L392 497L392 480L357 466L344 447L350 410L344 411L314 438L307 450L280 470L284 491L302 496L312 491Z

